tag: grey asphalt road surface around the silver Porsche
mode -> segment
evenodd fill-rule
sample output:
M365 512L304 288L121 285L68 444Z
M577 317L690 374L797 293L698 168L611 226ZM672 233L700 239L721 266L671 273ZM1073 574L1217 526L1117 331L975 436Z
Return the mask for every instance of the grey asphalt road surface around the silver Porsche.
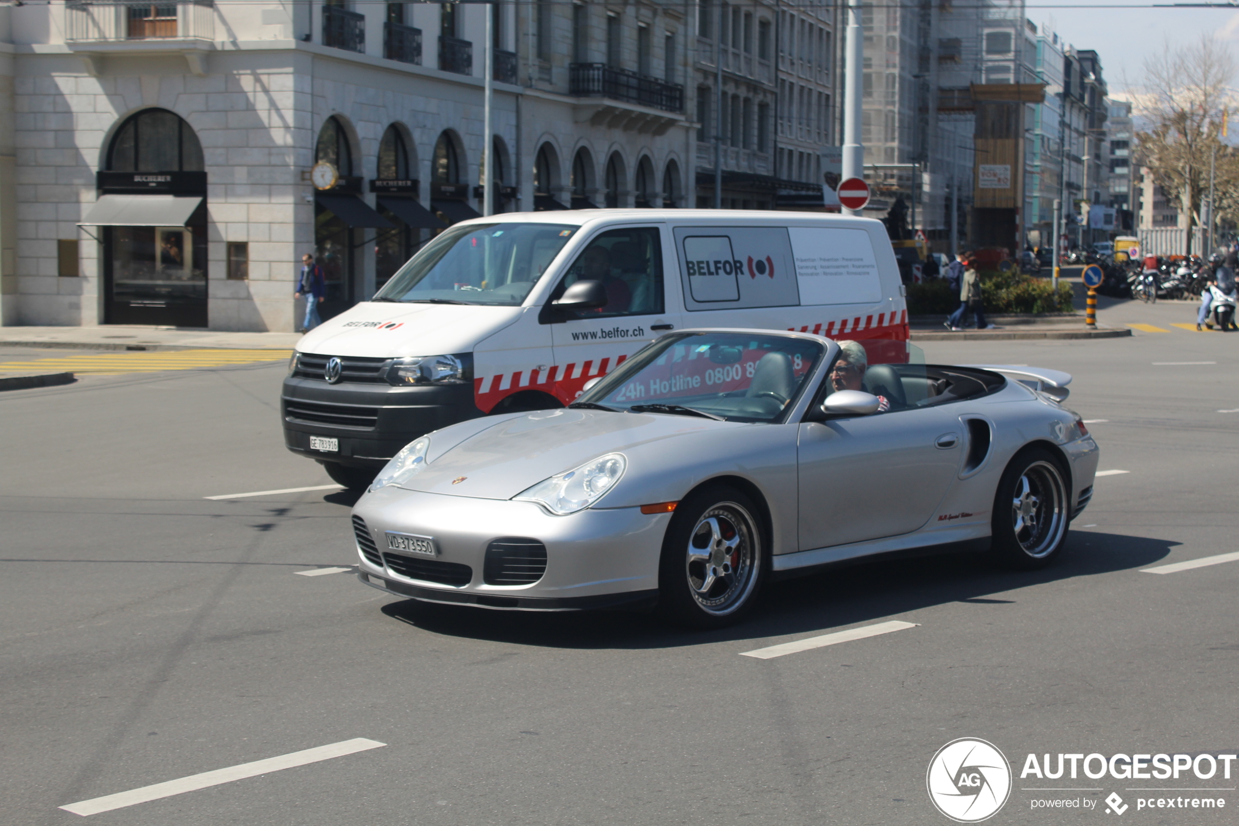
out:
M90 815L100 825L948 824L926 770L990 741L994 824L1232 824L1239 780L1021 779L1028 753L1237 753L1239 336L949 342L933 362L1075 376L1093 504L1037 573L966 555L773 585L745 624L403 602L349 572L349 495L281 442L282 364L0 394L0 822L353 738L383 747ZM1141 321L1142 320L1142 321ZM4 355L10 355L5 353ZM1208 364L1204 364L1208 362ZM1227 411L1227 412L1220 412ZM777 659L766 645L916 623ZM1233 767L1233 776L1239 765ZM1032 786L1088 791L1026 791ZM1225 788L1137 810L1134 786ZM1163 796L1206 793L1168 791ZM1038 799L1094 809L1033 810ZM1189 805L1189 804L1188 804Z

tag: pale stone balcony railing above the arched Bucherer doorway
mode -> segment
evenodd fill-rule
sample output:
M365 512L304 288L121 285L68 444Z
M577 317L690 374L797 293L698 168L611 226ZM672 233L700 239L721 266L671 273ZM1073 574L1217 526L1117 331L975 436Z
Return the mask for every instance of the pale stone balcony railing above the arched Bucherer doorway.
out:
M67 42L124 40L214 40L211 0L164 2L67 2Z

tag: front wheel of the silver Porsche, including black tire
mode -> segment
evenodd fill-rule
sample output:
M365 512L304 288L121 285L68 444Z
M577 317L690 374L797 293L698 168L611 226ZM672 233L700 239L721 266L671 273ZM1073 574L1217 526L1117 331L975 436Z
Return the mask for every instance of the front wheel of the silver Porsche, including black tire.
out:
M663 539L659 608L693 628L722 628L752 606L766 568L753 500L730 485L680 502Z

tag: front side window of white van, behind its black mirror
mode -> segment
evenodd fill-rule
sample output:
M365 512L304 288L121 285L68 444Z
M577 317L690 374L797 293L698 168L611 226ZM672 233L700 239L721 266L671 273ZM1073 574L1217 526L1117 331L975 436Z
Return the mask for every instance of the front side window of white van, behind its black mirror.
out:
M577 318L648 316L663 312L663 250L658 229L612 229L593 240L572 263L555 297L577 281L601 281L610 300Z

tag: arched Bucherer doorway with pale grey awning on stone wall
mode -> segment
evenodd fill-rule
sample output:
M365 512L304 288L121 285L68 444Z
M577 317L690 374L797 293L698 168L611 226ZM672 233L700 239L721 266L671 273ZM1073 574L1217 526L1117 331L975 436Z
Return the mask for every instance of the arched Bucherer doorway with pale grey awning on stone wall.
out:
M115 131L104 166L88 215L103 230L104 323L206 327L207 175L193 128L144 109Z

